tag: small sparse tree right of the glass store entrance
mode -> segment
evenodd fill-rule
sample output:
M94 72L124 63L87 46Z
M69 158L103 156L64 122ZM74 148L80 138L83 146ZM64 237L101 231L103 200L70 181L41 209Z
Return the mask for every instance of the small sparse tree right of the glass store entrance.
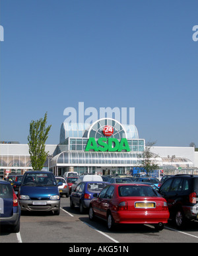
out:
M160 167L157 164L157 158L158 155L150 152L151 147L153 147L153 145L155 144L155 142L152 143L147 143L145 150L143 151L141 157L141 171L142 172L146 172L147 176L149 176L150 172L152 172L153 170L158 170Z

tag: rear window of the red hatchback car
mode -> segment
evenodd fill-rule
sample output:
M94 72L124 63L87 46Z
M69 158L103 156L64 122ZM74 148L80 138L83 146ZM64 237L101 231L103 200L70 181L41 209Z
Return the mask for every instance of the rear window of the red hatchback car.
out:
M160 196L151 186L119 186L119 196Z

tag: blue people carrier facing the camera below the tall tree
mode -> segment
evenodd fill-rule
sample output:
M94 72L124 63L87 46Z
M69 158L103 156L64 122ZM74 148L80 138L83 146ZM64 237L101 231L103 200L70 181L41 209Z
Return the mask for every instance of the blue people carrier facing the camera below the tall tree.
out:
M60 213L60 196L55 176L48 171L27 171L23 174L18 198L22 211L53 211Z

